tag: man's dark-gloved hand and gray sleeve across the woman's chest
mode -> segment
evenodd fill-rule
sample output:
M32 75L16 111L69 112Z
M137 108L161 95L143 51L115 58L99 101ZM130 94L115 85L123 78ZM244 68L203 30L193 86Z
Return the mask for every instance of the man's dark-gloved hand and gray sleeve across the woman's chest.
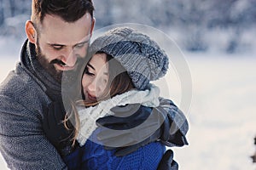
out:
M117 106L112 109L114 116L96 120L102 128L98 139L107 146L106 149L118 148L116 156L125 156L145 144L158 140L167 146L188 144L185 137L189 129L187 119L172 100L160 99L160 105L150 114L137 112L131 116L134 108L139 106Z

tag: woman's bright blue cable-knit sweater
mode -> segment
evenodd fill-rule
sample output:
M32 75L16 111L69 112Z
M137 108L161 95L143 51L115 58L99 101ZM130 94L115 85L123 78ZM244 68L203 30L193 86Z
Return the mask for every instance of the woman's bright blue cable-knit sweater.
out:
M90 139L87 139L82 147L79 146L73 153L64 157L68 169L153 170L157 169L166 151L164 144L154 142L140 147L127 156L114 156L115 150L105 150L96 139L97 133L99 133L98 129L91 134Z

